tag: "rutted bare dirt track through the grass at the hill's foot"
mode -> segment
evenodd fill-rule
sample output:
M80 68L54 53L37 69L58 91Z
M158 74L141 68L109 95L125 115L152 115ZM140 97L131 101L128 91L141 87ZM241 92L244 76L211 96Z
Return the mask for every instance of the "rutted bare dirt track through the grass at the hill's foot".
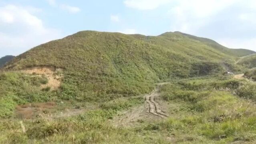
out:
M157 88L147 94L145 103L142 106L134 107L128 111L123 112L120 116L117 116L113 121L115 126L129 126L133 122L140 122L144 120L156 120L157 118L166 118L168 115L162 110L164 107L162 104L156 102L158 96L160 96L160 86L167 83L158 84Z

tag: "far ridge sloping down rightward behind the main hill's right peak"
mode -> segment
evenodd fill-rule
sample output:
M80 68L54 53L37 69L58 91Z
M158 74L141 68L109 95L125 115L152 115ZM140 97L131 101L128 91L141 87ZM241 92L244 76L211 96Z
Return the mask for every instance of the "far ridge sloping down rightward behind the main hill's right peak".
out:
M218 44L217 42L215 42L214 40L211 40L211 39L208 39L208 38L200 38L200 37L197 37L197 36L192 36L192 35L189 35L189 34L184 34L182 32L175 32L175 33L178 33L178 34L182 34L184 36L187 36L189 38L192 38L194 40L198 40L208 46L211 46L212 48L215 48L216 50L219 50L225 54L229 54L229 55L232 55L232 56L247 56L249 54L254 54L255 52L252 51L252 50L246 50L246 49L232 49L232 48L226 48L225 46L222 46L220 44Z

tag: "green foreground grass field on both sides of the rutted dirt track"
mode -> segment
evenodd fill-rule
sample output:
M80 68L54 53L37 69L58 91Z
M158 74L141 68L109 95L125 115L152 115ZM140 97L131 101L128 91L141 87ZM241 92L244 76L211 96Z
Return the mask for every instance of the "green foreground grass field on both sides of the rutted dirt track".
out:
M255 88L254 83L226 76L177 79L159 90L157 101L165 107L167 118L115 126L113 119L120 112L145 104L143 95L119 98L77 106L76 109L84 111L71 116L3 118L0 143L253 144L256 142L256 106L252 102L256 98ZM52 100L62 110L62 103L54 96ZM76 105L70 103L72 106Z

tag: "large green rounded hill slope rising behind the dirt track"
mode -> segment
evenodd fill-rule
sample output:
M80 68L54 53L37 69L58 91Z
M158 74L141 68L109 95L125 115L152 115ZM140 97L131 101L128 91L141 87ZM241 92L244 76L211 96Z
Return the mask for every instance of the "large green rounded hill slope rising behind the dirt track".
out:
M179 33L160 36L83 31L32 48L3 70L64 69L60 96L111 100L150 92L170 78L220 74L235 57ZM233 65L232 65L233 64Z

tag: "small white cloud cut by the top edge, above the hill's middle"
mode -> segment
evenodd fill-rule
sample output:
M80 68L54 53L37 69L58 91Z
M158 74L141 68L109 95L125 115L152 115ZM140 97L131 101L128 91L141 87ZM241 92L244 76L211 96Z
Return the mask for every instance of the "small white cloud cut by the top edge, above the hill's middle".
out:
M170 1L171 0L125 0L124 4L127 7L138 10L153 10Z

